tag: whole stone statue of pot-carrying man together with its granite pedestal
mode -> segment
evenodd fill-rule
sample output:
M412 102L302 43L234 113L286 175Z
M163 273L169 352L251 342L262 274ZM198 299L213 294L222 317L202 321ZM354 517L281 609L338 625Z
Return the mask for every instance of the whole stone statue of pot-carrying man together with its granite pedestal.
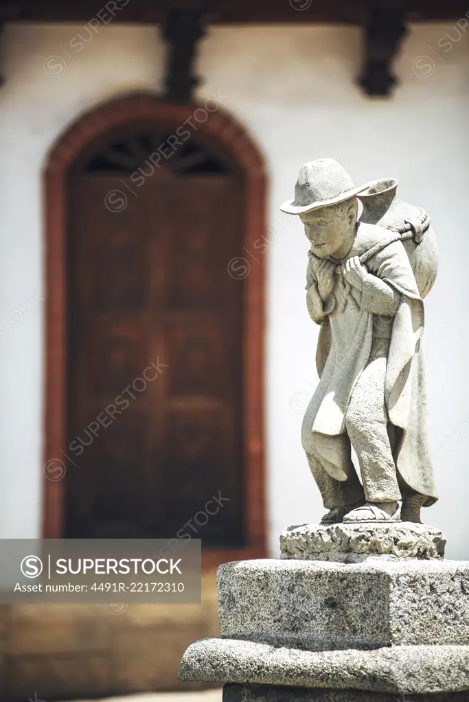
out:
M320 379L302 435L329 512L284 529L280 558L218 568L220 637L185 651L180 678L223 683L223 702L469 700L469 562L415 523L437 499L421 350L435 237L396 187L320 159L282 206L311 242Z

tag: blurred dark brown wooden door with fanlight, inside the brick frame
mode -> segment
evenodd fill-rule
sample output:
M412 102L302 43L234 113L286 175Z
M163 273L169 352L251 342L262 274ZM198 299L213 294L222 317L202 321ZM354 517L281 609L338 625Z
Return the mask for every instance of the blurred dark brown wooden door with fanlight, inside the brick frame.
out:
M163 140L114 135L68 184L66 535L243 545L244 185L194 139L152 168Z

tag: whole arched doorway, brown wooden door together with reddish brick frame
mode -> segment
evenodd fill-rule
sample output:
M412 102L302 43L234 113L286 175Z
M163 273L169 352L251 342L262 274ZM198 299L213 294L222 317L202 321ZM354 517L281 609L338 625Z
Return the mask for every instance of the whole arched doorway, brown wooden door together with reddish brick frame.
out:
M191 536L264 551L263 261L227 267L265 175L219 110L175 144L195 109L115 100L48 159L45 536L176 536L221 495Z

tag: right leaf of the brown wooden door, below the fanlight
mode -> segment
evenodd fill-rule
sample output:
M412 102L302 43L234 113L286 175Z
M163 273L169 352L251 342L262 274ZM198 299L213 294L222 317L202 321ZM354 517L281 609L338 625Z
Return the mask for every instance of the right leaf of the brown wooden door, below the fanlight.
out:
M164 519L174 533L194 519L217 545L220 523L234 534L242 514L242 289L227 274L239 251L239 194L224 180L192 182L183 201L175 193L166 239L164 451L178 489ZM220 495L230 501L213 502Z

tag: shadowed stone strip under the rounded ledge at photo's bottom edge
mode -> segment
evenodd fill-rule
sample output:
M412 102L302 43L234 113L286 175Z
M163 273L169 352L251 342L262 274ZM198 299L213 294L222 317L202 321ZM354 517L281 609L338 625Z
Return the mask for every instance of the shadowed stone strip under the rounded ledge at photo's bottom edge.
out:
M226 684L223 702L468 702L468 693L400 695L357 690L322 690L305 687Z

